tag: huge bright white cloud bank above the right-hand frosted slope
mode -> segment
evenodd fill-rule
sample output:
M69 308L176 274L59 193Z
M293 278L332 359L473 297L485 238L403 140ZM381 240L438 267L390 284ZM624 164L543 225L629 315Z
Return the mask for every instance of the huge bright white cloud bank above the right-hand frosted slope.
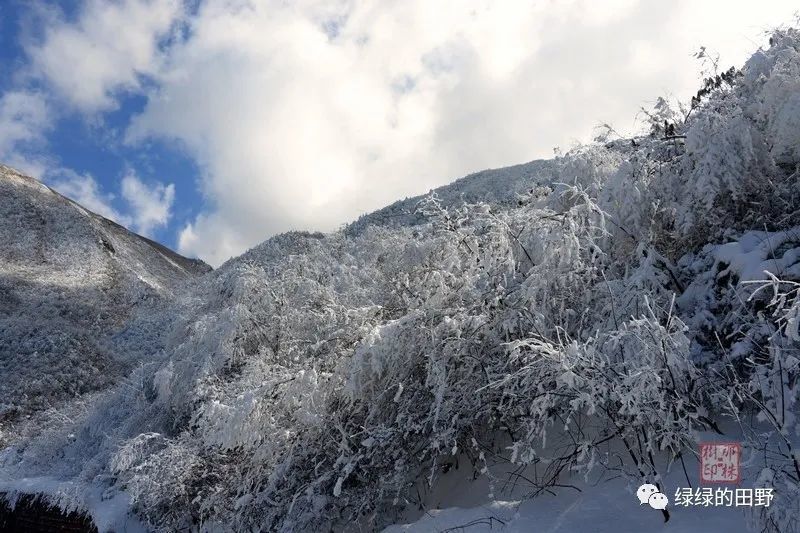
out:
M742 34L793 9L703 4L207 0L128 139L176 139L200 163L209 205L180 250L219 264L600 122L631 130L639 106L695 88L701 44L752 50Z

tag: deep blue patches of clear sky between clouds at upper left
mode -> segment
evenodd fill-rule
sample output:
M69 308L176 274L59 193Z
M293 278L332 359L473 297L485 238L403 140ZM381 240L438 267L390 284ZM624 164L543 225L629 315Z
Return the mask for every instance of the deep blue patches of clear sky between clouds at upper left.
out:
M124 142L127 125L131 117L144 109L146 96L138 91L123 90L115 95L111 108L99 113L95 110L82 112L59 105L63 102L48 94L52 91L46 80L31 76L29 72L30 56L26 45L46 39L43 30L48 27L74 23L83 8L84 4L78 1L34 5L17 0L0 7L0 62L9 67L4 71L13 73L3 78L0 90L5 93L24 88L52 98L48 113L53 120L43 128L42 140L20 150L28 156L27 161L21 160L20 166L29 167L36 177L79 201L86 198L74 194L74 187L66 185L69 176L65 178L63 173L92 177L97 185L97 200L108 208L98 211L177 248L178 229L192 220L204 204L197 186L199 171L193 159L176 143L150 142L146 146L132 146ZM58 22L54 23L51 17L57 17ZM143 79L143 84L146 83ZM174 186L170 216L163 224L142 226L131 220L132 208L120 188L122 179L131 173L146 187L165 182ZM97 206L92 207L96 209Z

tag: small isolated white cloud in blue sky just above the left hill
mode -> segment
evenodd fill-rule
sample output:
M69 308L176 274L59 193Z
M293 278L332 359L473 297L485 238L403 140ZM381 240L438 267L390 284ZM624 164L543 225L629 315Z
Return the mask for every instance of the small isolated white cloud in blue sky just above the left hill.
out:
M150 235L155 228L169 222L175 186L171 183L147 185L133 172L128 172L122 178L122 197L130 206L132 227L142 235Z

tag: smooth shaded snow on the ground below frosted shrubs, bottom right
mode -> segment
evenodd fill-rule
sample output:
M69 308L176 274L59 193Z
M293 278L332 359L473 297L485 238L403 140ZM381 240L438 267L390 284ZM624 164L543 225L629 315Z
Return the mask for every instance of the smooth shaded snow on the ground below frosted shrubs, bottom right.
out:
M726 441L739 441L734 424L724 427ZM714 433L697 435L699 442L719 440ZM624 450L613 446L606 450L619 455ZM535 498L530 495L532 468L520 469L518 465L493 462L488 465L489 475L474 478L470 468L450 469L430 493L423 496L423 509L410 505L398 519L398 524L384 529L384 533L726 533L748 531L745 526L745 507L700 507L675 505L675 491L679 488L712 487L730 488L752 486L752 479L740 485L701 485L700 467L694 456L686 457L683 465L658 456L663 476L662 491L669 498L669 521L659 510L640 505L636 497L633 476L620 476L619 472L595 469L588 476L566 476L564 485L543 492ZM463 458L460 461L463 464ZM467 465L468 466L468 465ZM687 481L688 477L688 481Z

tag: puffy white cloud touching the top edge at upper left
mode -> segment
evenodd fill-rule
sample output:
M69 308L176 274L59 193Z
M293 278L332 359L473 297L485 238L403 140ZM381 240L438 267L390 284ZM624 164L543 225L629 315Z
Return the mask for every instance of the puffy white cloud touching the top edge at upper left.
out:
M115 93L140 89L156 68L181 14L181 0L87 0L76 21L51 20L28 48L33 71L81 111L113 109Z

